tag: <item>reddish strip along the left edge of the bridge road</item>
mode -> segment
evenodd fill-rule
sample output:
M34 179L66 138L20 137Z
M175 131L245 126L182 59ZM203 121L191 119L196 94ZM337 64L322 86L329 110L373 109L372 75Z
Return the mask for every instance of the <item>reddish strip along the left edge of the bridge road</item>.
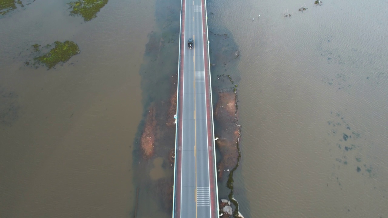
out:
M175 154L175 158L178 157L178 164L177 164L177 177L176 177L176 202L175 202L175 217L180 218L180 201L181 201L181 187L182 187L182 118L183 118L183 77L184 77L184 51L185 51L185 0L182 0L182 8L181 8L181 16L182 16L182 23L181 23L181 32L180 32L180 54L179 54L179 101L178 101L178 147L177 152ZM174 209L174 208L173 208Z

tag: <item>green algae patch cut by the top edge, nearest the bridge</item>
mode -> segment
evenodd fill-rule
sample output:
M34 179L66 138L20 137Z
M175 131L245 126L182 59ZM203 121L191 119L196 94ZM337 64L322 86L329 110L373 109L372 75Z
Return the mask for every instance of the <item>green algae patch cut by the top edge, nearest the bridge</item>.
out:
M80 15L84 21L90 21L97 17L97 13L108 3L108 0L79 0L68 3L70 15Z

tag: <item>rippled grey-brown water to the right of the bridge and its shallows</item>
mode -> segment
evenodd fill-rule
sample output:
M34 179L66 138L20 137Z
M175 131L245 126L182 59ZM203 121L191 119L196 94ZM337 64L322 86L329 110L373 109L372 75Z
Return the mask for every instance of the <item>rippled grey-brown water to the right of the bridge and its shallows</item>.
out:
M382 5L209 1L210 23L227 27L240 51L235 194L245 217L387 215Z

